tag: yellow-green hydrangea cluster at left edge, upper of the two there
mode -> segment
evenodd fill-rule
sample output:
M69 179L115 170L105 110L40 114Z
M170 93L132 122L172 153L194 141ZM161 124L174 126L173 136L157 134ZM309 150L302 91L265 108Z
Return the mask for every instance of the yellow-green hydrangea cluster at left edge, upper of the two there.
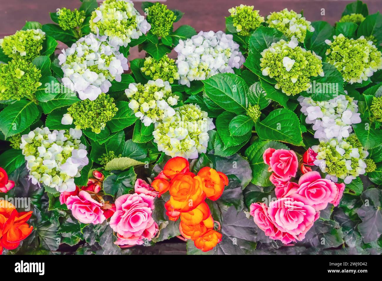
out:
M16 31L15 34L0 39L4 54L10 58L23 58L32 61L40 55L45 32L41 29Z

